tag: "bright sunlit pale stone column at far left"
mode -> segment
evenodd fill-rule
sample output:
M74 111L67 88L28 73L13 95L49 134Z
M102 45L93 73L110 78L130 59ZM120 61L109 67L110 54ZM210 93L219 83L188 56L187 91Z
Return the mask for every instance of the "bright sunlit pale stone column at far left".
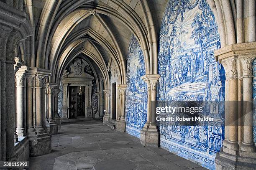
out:
M24 87L26 84L26 71L23 69L19 69L16 72L16 88L17 88L17 128L16 133L18 136L25 136L25 127L24 127Z

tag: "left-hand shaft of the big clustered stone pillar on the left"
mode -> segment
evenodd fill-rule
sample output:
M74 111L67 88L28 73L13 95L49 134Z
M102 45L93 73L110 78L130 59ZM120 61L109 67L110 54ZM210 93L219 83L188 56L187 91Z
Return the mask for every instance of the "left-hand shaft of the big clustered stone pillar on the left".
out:
M33 124L33 86L35 75L26 75L27 86L27 136L35 136L35 129Z

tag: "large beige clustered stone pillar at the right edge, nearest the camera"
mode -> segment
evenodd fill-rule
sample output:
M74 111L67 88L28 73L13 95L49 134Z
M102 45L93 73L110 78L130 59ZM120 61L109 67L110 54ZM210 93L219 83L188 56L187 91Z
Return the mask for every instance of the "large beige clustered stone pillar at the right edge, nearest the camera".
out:
M252 62L256 42L225 46L215 50L225 69L225 140L216 154L216 170L253 170ZM238 103L241 101L241 103Z

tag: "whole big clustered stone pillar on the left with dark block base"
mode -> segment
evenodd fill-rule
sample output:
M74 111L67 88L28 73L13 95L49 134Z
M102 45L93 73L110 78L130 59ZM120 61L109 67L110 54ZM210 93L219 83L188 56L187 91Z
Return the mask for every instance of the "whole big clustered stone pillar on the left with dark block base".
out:
M38 156L51 152L51 136L46 132L45 126L45 86L44 82L51 72L49 70L29 67L27 74L28 99L28 140L30 146L30 155ZM32 90L32 86L34 88ZM33 97L32 97L33 96ZM31 104L33 106L31 106ZM33 118L32 109L33 108ZM33 122L32 122L33 120ZM31 124L33 124L31 126ZM36 132L33 131L33 127Z

